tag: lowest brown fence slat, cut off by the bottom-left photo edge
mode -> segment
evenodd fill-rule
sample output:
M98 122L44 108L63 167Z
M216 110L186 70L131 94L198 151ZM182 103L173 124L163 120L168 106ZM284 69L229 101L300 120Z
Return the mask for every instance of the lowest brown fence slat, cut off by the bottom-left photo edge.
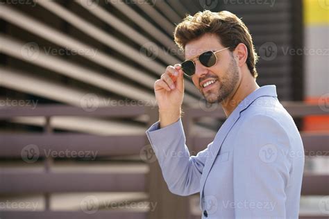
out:
M1 219L103 219L103 218L120 218L120 219L146 219L148 213L141 211L96 211L95 213L85 213L83 211L0 211Z

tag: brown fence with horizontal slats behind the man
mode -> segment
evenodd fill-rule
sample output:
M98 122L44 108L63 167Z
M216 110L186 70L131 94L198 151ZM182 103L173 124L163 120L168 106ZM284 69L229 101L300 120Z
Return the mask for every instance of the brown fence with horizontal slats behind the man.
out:
M294 118L307 115L328 115L319 105L305 103L284 103L285 108ZM189 130L197 119L203 116L225 119L221 109L205 112L202 109L185 109L183 123L189 150L203 150L213 137L194 137ZM99 157L140 155L141 150L149 145L145 134L127 136L96 136L93 134L53 133L50 126L52 116L93 116L106 118L133 119L148 115L147 127L158 121L158 110L151 107L99 107L94 112L86 112L82 108L63 105L38 105L29 107L6 107L0 109L0 120L8 120L16 116L44 116L47 123L44 133L1 133L0 159L22 159L22 149L29 143L39 146L40 157L44 158L44 172L35 173L28 170L0 172L0 196L22 193L44 193L44 211L0 211L0 218L201 218L191 213L189 197L179 197L169 193L167 185L157 161L147 162L148 173L53 173L50 167L53 157L46 156L44 151L94 150ZM328 155L329 135L301 132L305 146L305 155ZM90 148L92 145L92 148ZM144 149L143 149L144 148ZM45 150L43 150L45 149ZM146 148L146 150L148 150ZM329 195L329 176L310 175L303 177L302 195ZM149 202L156 203L154 211L96 211L92 214L84 211L51 211L51 193L66 192L145 192L149 194ZM301 218L315 218L301 217ZM328 218L328 217L317 217Z

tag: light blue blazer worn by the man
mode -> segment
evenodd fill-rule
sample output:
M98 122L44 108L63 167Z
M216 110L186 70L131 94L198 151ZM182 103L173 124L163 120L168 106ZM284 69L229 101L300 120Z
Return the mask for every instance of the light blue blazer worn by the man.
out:
M169 191L200 192L202 218L298 218L303 142L274 85L249 94L196 156L180 119L146 135Z

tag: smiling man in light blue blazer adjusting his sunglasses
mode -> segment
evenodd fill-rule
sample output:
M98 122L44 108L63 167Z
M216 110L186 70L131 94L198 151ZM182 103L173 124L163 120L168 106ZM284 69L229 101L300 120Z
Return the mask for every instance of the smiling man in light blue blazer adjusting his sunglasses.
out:
M244 23L205 10L186 17L174 37L186 61L155 81L160 121L146 131L169 190L200 192L203 218L298 218L303 143L276 87L255 80L258 57ZM185 146L180 119L184 74L227 116L196 156Z

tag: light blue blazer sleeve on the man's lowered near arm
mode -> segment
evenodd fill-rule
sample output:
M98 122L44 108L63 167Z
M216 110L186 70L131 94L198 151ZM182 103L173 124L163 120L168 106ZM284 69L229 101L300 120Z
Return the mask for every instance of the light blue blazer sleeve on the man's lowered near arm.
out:
M285 218L291 149L282 125L268 115L251 116L234 147L235 218Z

